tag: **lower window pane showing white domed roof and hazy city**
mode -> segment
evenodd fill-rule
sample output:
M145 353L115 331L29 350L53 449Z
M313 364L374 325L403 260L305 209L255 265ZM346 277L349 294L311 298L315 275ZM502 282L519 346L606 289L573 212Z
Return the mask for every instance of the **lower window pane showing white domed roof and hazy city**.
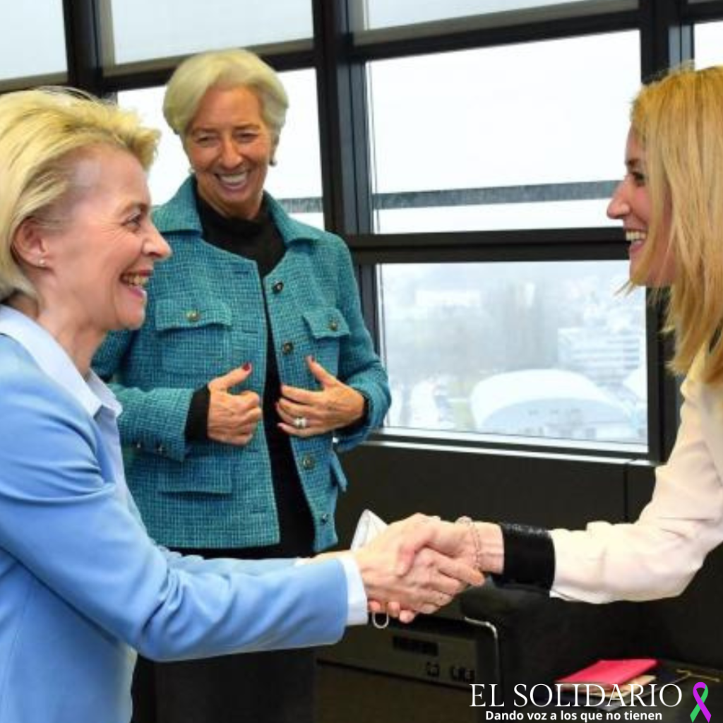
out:
M646 445L645 295L616 293L627 262L379 273L389 427Z

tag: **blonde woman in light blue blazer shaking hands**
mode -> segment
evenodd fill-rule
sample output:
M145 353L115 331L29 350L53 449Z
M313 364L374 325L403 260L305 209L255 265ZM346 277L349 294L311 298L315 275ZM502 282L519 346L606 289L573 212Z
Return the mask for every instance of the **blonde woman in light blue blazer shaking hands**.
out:
M155 140L78 93L0 98L2 723L128 723L135 650L331 643L366 621L367 595L431 612L456 577L479 580L431 551L398 569L426 534L419 518L313 564L202 560L150 539L124 479L119 403L90 360L108 331L142 324L168 256L145 179Z

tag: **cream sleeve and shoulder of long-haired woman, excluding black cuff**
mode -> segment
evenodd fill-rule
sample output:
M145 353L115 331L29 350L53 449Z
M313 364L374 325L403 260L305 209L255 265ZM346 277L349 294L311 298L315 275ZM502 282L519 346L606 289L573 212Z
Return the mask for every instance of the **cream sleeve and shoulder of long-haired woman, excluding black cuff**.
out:
M552 531L553 595L586 602L675 596L723 541L723 390L697 377L694 364L675 447L656 470L638 521Z

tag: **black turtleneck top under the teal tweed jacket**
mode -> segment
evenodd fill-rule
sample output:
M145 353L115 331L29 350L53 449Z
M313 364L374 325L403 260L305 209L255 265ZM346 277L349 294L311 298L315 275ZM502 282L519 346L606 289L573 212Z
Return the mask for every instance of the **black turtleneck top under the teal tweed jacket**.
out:
M281 261L286 253L281 234L270 218L266 202L262 202L256 218L249 221L243 218L226 218L211 208L198 195L196 207L203 229L204 240L219 249L242 256L254 261L260 278L268 275ZM228 289L232 294L233 289ZM301 488L299 473L296 470L294 454L291 451L291 440L288 435L278 429L281 420L276 414L275 401L277 390L281 388L276 356L274 354L271 324L268 316L268 305L264 299L266 311L266 379L262 395L263 424L266 433L268 453L271 462L274 495L278 512L278 523L281 542L268 547L247 547L243 549L243 557L254 559L260 557L294 557L310 555L313 551L314 526L304 491ZM192 398L186 424L187 440L208 440L208 406L210 392L208 387L197 390ZM209 551L200 552L209 557ZM214 557L237 557L238 551L214 550Z

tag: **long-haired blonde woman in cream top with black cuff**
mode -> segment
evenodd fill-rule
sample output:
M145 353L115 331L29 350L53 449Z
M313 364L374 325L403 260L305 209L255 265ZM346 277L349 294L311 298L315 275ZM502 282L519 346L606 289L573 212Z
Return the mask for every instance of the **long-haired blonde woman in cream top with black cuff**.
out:
M680 594L723 541L723 67L677 69L643 87L630 119L625 177L607 213L630 241L630 282L669 291L670 368L685 375L654 495L634 523L476 522L474 536L440 527L435 542L502 581L586 602Z

